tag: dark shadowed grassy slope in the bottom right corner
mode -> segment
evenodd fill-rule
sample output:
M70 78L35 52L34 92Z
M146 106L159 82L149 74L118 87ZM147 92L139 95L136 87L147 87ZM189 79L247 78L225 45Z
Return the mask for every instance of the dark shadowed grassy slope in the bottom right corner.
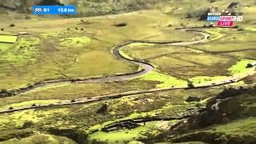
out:
M188 131L174 138L175 142L202 141L210 143L254 143L255 137L255 87L245 94L226 99L219 104L220 110L207 115L212 119L201 130ZM170 138L171 139L171 138Z

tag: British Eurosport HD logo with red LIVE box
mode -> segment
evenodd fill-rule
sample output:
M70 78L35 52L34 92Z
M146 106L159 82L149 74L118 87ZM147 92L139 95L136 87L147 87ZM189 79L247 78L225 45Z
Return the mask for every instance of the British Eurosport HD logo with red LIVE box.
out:
M217 26L232 27L235 22L242 22L243 17L228 10L222 10L222 13L208 13L208 22L217 22Z

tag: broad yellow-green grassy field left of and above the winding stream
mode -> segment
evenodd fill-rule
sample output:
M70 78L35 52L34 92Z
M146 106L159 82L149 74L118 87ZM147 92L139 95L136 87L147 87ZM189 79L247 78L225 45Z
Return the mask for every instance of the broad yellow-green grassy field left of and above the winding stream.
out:
M141 18L144 20L138 23L138 19ZM81 19L91 23L89 25L81 24ZM160 20L155 22L156 19ZM169 19L166 14L153 10L123 14L110 19L43 19L40 22L35 19L30 19L30 21L12 20L13 23L18 22L18 25L6 28L6 31L14 33L24 30L26 27L26 30L33 34L21 37L14 45L20 50L10 50L3 57L8 62L2 65L4 68L0 74L2 75L1 88L14 89L44 79L86 78L134 72L138 70L138 66L116 60L110 54L110 49L127 39L146 39L155 34L165 35L163 30L166 30L166 19ZM127 22L128 26L113 26L118 22ZM1 22L0 27L5 25L4 22ZM155 28L156 26L158 29ZM50 28L54 28L54 30L50 30ZM172 32L177 33L176 30L170 29L169 31L170 34L166 33L166 36L152 37L150 40L185 40L192 39L196 35L184 32L181 34L181 36L184 35L183 37L177 38L171 34ZM80 37L90 38L90 40ZM38 40L30 43L32 39ZM17 56L16 53L22 55Z

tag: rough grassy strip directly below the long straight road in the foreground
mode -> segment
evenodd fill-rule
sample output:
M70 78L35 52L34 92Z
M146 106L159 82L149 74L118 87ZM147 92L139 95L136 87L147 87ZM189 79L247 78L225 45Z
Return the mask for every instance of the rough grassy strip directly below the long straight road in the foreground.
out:
M202 94L203 91L203 94ZM190 94L207 97L208 94L218 94L218 89L210 90L190 90L186 94L182 94L182 90L159 92L154 94L140 94L126 98L115 99L107 101L109 104L108 114L96 114L96 111L102 106L104 102L93 103L89 105L67 106L65 108L56 107L54 109L46 110L25 110L14 114L4 114L1 117L0 130L2 133L1 138L14 137L18 133L17 129L22 128L24 122L32 121L34 130L60 129L60 130L88 130L91 126L102 124L108 121L115 121L121 118L126 118L127 115L132 114L128 118L142 118L156 114L160 118L170 116L182 116L182 114L189 114L188 109L195 107L184 102L184 95ZM137 100L134 100L134 99ZM152 100L150 100L152 99ZM134 113L134 110L137 112ZM144 113L142 113L142 111ZM172 112L170 114L170 111ZM133 114L134 113L134 114ZM143 127L142 130L145 130ZM11 130L11 134L9 133ZM123 131L121 131L123 133ZM134 132L131 131L130 134ZM62 134L62 133L61 133ZM146 134L147 135L147 134Z

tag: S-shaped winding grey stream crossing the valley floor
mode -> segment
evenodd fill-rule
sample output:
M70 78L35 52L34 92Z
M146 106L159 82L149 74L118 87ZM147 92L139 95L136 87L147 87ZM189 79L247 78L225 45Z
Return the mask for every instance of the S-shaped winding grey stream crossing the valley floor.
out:
M112 48L111 53L118 60L121 60L123 62L130 62L134 65L141 66L142 70L135 71L134 73L130 73L130 74L115 74L114 76L106 76L106 77L99 77L99 78L93 77L93 78L74 78L74 79L54 79L54 80L42 81L42 82L34 83L30 86L19 88L17 90L9 90L10 95L8 96L15 96L18 94L26 93L27 91L37 89L38 87L49 86L51 84L63 84L63 83L72 83L72 82L76 82L76 83L120 82L120 81L130 80L132 78L138 78L139 76L154 70L154 66L150 65L149 63L142 62L142 60L134 60L134 59L130 59L122 56L122 54L120 54L119 51L124 46L128 46L132 43L161 44L166 46L186 46L186 45L194 45L201 42L207 42L207 39L210 37L210 34L206 34L198 30L192 30L192 29L181 29L181 30L202 34L204 38L193 41L193 42L150 42L150 41L143 41L143 40L130 40L127 42L122 42L118 46L114 46Z

